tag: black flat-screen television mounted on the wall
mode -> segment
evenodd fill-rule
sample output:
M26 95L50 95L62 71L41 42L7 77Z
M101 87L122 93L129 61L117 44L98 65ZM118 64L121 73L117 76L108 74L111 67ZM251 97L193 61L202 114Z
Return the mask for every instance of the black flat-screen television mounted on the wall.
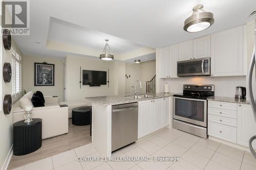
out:
M106 84L106 71L82 70L82 85L100 86Z

